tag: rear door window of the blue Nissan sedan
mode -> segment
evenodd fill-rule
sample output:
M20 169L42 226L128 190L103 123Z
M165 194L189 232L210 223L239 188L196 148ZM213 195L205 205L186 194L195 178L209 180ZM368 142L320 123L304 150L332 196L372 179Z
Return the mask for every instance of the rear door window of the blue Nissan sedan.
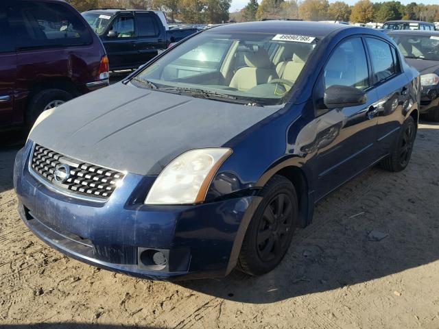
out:
M392 56L392 50L387 42L375 38L366 38L366 43L372 60L375 82L388 80L399 72L398 66L394 62L394 56Z

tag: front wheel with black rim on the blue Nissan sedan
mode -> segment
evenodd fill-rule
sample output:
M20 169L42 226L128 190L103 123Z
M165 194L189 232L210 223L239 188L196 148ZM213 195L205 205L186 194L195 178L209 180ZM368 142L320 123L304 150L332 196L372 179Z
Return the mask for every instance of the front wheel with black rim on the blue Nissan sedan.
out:
M281 263L298 224L296 189L287 178L274 175L260 195L263 199L250 221L237 264L251 276L268 273Z

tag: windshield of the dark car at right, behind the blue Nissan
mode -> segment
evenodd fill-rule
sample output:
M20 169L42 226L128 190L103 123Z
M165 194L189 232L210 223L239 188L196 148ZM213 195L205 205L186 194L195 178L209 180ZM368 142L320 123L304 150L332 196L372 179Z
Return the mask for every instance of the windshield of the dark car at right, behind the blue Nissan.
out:
M439 60L439 36L392 36L406 58Z

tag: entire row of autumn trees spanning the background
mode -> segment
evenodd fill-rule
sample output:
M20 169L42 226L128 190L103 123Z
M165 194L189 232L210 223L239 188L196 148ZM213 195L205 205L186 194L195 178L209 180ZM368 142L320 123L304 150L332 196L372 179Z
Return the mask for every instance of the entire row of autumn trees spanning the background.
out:
M439 21L439 5L399 1L372 3L359 0L355 5L328 0L250 0L239 12L229 14L232 0L67 0L79 11L91 8L130 8L163 10L169 21L184 23L225 23L260 19L303 19L306 21L351 21L368 23L393 19Z

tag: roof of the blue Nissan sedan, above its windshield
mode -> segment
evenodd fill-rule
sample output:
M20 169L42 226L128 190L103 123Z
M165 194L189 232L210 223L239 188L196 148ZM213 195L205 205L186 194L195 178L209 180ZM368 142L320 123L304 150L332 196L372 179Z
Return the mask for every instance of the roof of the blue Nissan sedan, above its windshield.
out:
M260 21L248 23L234 23L211 27L206 32L253 32L253 33L276 33L276 34L298 34L302 36L324 37L336 30L361 29L367 33L367 27L357 27L337 23L321 23L309 21ZM361 33L359 32L359 33Z

